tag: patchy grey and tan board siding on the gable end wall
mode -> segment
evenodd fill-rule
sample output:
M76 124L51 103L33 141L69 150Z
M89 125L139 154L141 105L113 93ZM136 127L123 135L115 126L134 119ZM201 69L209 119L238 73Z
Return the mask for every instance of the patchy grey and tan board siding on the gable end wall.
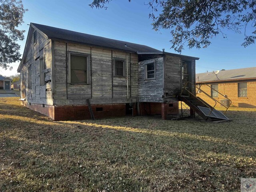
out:
M44 38L37 32L37 42L34 44L33 39L30 43L24 67L21 70L22 96L26 95L26 101L37 104L52 105L51 83L40 85L40 58L45 56L45 80L51 80L51 40ZM28 67L31 66L31 89L28 88ZM26 87L26 88L25 88ZM46 91L46 88L48 91Z

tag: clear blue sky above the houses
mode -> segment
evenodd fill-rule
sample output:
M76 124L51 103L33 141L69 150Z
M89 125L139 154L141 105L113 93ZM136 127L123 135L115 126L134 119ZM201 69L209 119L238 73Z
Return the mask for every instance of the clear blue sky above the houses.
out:
M170 49L172 38L168 30L156 32L152 30L152 20L148 18L150 9L144 5L146 0L113 0L108 9L92 9L88 4L92 0L23 0L28 12L24 15L24 24L20 29L26 30L27 36L30 22L65 28L78 32L123 40L151 46L158 50ZM185 47L182 54L199 57L196 72L202 73L221 69L235 69L256 66L256 45L247 48L240 46L243 34L225 31L228 38L217 36L205 49L189 49ZM25 41L19 41L20 52L23 53ZM17 72L18 63L12 64L13 70L3 70L0 74L11 75Z

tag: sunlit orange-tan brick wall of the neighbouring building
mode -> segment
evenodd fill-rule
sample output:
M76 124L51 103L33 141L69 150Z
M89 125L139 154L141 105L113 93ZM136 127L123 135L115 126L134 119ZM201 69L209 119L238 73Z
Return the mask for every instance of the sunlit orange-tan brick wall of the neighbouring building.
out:
M239 82L219 83L218 92L220 92L223 95L227 95L227 97L232 101L232 106L234 107L256 108L256 81L247 82L247 97L238 97L238 83ZM203 84L201 86L201 89L207 94L211 95L210 87ZM212 99L207 97L202 92L198 93L197 96L205 100L210 105L215 104L215 102ZM215 98L215 99L220 102L220 100L223 100L225 98L224 96L219 94L218 98ZM221 106L221 105L217 103L217 106Z

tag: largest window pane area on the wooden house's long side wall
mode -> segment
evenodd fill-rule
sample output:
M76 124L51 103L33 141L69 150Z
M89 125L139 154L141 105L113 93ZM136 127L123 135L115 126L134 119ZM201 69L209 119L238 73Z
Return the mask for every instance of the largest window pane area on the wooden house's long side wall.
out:
M87 84L87 57L70 54L70 82Z

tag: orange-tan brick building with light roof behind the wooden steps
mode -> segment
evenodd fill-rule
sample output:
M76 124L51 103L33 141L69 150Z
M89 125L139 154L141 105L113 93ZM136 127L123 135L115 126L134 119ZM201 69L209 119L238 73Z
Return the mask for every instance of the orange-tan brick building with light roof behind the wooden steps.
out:
M202 90L197 96L211 105L215 102L209 96L222 103L229 98L233 107L256 108L256 67L222 70L218 74L199 73L196 86Z

